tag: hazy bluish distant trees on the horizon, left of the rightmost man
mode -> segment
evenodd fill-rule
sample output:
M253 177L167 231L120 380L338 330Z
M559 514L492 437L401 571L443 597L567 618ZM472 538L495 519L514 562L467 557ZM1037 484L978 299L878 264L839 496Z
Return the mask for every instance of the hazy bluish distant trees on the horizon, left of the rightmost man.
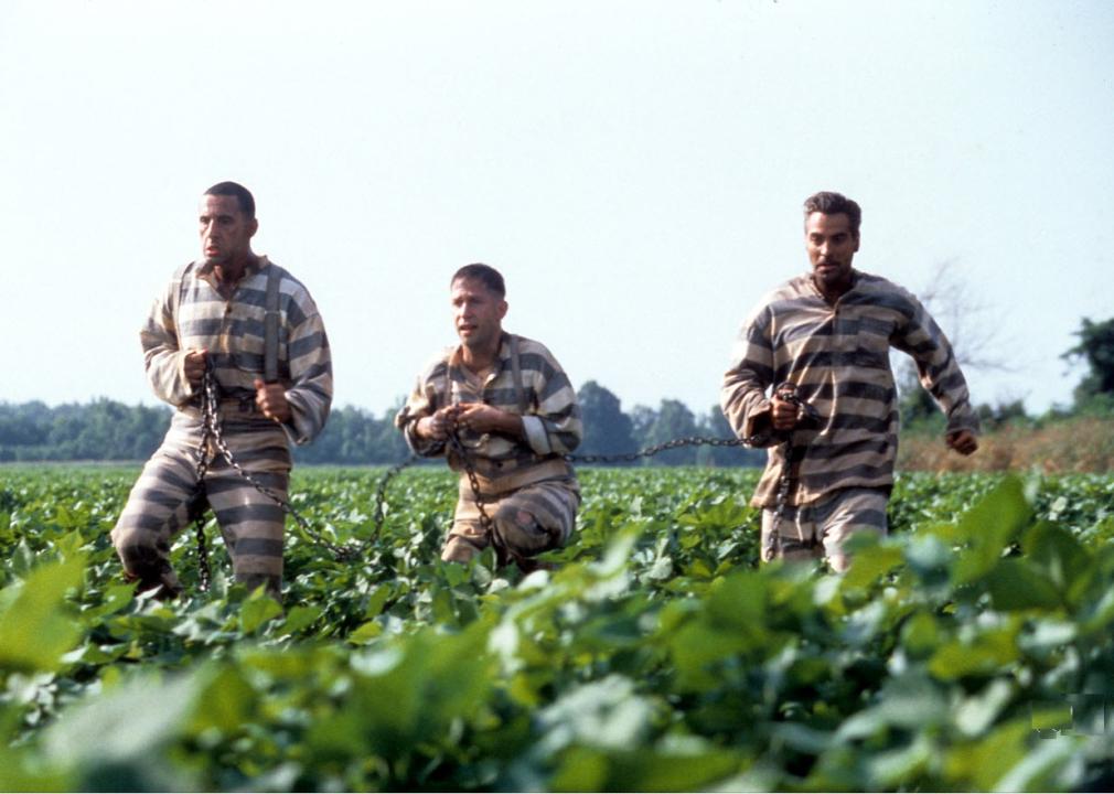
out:
M625 413L619 399L595 381L579 392L584 415L583 454L636 452L671 439L733 434L719 405L694 414L677 400L657 409L635 405ZM374 414L351 405L334 409L324 432L312 444L294 449L300 463L382 465L403 460L409 451L394 427L397 410ZM0 461L136 461L158 448L169 425L168 406L126 405L107 399L48 406L42 402L0 403ZM761 451L737 447L685 447L634 464L758 465Z

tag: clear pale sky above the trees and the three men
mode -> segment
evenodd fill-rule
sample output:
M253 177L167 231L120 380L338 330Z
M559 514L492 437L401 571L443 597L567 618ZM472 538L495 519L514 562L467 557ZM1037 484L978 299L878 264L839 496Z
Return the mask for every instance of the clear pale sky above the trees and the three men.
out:
M1103 0L9 0L0 144L0 401L154 404L138 330L222 179L375 413L478 261L574 384L706 411L819 189L862 205L860 269L952 263L1012 365L976 402L1069 402L1059 354L1114 315Z

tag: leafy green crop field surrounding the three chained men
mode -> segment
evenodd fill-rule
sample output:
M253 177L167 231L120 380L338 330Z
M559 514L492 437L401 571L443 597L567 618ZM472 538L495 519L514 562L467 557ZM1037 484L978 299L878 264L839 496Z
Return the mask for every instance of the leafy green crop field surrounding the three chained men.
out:
M1114 476L906 476L849 572L756 565L753 471L585 470L522 578L437 561L453 478L338 562L287 522L282 608L134 597L135 469L0 469L0 790L1108 791ZM299 470L364 539L379 471Z

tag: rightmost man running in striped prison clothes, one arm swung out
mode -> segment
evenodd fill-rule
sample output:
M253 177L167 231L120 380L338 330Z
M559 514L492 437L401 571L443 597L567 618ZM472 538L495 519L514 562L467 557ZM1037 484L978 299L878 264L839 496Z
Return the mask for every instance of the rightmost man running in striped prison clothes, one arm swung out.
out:
M947 444L978 448L978 416L944 332L906 290L852 267L861 218L838 193L805 200L811 272L761 301L724 375L721 405L735 433L769 447L752 500L763 508L765 561L825 556L841 571L852 533L886 533L898 445L891 346L913 357L947 414Z

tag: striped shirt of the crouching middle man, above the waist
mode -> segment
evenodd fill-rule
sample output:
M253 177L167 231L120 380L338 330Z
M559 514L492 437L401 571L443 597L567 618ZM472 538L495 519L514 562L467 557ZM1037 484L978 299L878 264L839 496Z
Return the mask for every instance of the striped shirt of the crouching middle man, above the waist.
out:
M482 382L465 366L459 346L444 350L419 376L410 399L395 416L395 424L403 429L407 443L417 454L441 455L446 453L444 442L414 435L417 421L446 405L482 402L520 415L525 438L461 428L458 431L461 444L470 453L478 474L496 483L515 486L571 478L573 469L561 455L575 450L584 434L576 391L544 344L519 336L524 403L519 405L510 347L510 335L505 333L498 361ZM449 455L449 465L456 471L463 470L455 454Z

